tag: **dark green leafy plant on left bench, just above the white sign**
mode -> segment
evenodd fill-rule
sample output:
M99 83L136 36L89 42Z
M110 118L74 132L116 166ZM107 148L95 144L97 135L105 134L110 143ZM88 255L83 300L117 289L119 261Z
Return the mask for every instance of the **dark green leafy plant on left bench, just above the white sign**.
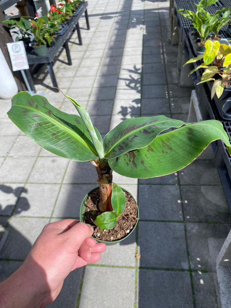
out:
M31 30L31 22L26 19L26 16L21 16L20 20L15 19L6 19L2 22L7 23L10 25L10 29L13 29L13 33L18 34L18 36L15 39L15 42L18 41L30 41L31 33L29 32Z

